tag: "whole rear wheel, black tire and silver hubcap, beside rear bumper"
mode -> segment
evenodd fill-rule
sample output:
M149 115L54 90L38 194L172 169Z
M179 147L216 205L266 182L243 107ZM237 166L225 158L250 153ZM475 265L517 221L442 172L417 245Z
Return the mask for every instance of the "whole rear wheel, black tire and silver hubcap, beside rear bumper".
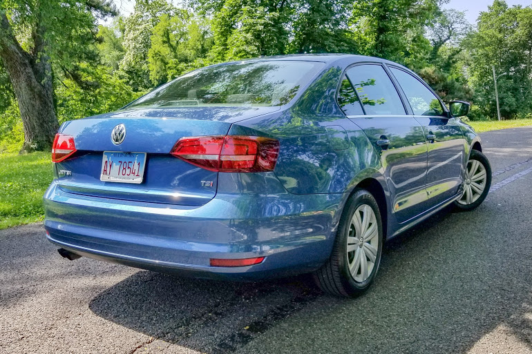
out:
M316 283L326 293L336 296L354 297L363 293L379 271L382 245L383 227L377 201L367 190L356 190L343 209L330 258L314 273Z

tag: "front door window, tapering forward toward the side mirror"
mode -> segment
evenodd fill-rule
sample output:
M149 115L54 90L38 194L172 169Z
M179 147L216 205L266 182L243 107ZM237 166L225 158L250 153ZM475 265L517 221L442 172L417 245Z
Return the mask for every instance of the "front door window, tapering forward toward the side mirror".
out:
M446 115L441 101L421 81L401 69L390 68L390 70L405 92L415 115Z

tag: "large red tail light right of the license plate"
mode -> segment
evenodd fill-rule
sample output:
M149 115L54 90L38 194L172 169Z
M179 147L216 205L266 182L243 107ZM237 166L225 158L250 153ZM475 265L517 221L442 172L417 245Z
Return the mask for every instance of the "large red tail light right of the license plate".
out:
M275 168L279 142L266 137L184 137L171 155L218 172L266 172Z

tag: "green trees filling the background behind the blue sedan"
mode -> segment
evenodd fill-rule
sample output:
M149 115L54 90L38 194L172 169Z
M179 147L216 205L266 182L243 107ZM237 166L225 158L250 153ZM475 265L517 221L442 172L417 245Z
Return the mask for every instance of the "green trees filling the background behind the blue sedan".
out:
M531 115L532 8L495 0L471 25L444 2L137 0L124 15L109 0L0 0L0 150L22 131L18 148L46 150L62 121L195 68L293 53L397 61L444 101L472 101L471 119L496 117L495 68L503 117Z

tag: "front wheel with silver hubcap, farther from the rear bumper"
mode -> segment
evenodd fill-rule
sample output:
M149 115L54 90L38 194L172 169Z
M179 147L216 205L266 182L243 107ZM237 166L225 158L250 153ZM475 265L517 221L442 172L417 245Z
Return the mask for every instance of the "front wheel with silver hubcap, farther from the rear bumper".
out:
M459 210L473 210L486 199L491 188L491 165L488 158L477 150L471 150L466 166L464 193L455 201Z

